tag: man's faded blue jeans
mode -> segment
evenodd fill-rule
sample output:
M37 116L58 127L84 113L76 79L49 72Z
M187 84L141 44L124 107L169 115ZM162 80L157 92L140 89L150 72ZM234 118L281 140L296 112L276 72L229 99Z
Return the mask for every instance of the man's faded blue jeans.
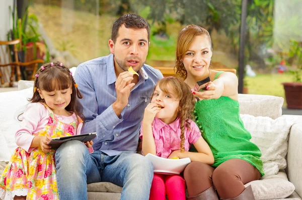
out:
M101 151L89 154L79 141L63 143L55 153L60 200L87 199L87 183L111 182L122 186L121 199L149 199L153 165L133 152L108 156Z

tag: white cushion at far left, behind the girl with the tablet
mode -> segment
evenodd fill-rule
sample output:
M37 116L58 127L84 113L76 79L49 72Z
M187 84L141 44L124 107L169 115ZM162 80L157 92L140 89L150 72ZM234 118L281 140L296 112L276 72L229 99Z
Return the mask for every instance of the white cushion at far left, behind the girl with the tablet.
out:
M29 103L28 99L33 96L33 87L12 92L0 93L0 135L4 136L8 149L3 152L11 156L17 145L15 143L16 131L20 128L20 121L17 116L25 110ZM9 151L9 152L7 152ZM0 159L0 161L7 159Z

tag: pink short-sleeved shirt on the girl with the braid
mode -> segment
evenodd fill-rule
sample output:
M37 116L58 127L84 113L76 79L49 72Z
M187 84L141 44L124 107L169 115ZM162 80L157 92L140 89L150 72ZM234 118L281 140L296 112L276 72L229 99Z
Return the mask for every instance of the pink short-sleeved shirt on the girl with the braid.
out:
M189 120L190 128L185 127L185 151L189 151L191 144L201 136L201 132L197 124ZM158 118L154 118L153 124L153 137L156 147L156 155L163 158L168 158L175 150L180 150L180 120L177 118L174 122L166 124ZM139 138L142 139L142 122L140 127Z

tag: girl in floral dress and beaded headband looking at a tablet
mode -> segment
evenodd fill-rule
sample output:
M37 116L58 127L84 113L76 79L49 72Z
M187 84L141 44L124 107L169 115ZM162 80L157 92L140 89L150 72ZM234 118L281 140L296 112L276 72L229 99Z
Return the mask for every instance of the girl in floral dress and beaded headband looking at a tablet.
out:
M46 63L35 75L34 94L16 132L19 146L0 177L0 198L59 199L51 138L81 134L82 98L71 72L60 62ZM87 142L90 152L93 142Z

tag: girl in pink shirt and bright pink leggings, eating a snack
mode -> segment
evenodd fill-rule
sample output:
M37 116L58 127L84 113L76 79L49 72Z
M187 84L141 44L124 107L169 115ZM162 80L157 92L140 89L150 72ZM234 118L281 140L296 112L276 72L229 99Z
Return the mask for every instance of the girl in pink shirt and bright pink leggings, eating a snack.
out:
M214 158L193 119L195 98L179 77L160 80L141 123L142 153L163 158L190 158L213 164ZM194 144L198 152L188 152ZM181 175L154 174L149 199L185 200L185 180Z

